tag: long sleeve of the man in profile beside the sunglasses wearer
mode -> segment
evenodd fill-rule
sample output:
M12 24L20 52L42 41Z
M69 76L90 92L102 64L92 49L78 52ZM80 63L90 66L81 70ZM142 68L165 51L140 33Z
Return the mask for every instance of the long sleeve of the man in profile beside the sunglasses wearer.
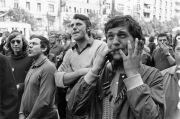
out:
M55 66L46 67L42 70L40 79L40 91L28 119L40 118L41 114L47 112L47 106L52 105L55 94L54 72Z

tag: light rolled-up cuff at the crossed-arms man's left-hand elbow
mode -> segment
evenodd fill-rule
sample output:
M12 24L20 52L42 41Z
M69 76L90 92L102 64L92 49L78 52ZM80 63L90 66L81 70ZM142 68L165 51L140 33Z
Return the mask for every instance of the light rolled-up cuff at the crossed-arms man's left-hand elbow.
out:
M55 83L57 87L61 88L66 88L66 86L63 83L63 77L64 77L65 72L55 72L54 77L55 77Z

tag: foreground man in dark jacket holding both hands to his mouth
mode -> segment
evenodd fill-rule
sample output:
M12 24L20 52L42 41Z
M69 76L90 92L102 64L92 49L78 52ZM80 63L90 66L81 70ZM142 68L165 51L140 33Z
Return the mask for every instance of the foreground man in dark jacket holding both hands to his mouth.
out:
M131 16L117 16L107 22L105 34L109 49L73 87L69 110L86 119L163 119L163 78L141 63L139 24Z

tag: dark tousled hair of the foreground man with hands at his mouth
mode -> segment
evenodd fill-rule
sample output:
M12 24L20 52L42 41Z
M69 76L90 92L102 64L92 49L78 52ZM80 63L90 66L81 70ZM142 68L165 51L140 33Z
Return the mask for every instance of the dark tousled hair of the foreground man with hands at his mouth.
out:
M129 33L133 36L134 39L138 38L141 40L143 37L139 23L135 21L130 15L115 16L114 18L110 19L105 24L105 34L107 34L109 29L118 26L127 26Z

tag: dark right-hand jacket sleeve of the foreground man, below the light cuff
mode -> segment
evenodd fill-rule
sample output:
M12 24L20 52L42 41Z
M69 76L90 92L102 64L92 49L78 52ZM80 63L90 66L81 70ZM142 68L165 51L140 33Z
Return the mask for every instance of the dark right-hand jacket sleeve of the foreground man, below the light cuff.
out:
M159 71L153 71L149 76L150 85L141 84L129 89L127 99L137 119L162 119L165 110L163 78Z

